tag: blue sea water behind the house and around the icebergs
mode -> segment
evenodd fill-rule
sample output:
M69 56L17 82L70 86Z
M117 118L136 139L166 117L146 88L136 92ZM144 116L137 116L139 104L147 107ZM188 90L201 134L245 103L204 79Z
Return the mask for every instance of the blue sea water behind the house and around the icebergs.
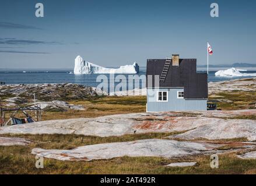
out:
M219 69L218 69L219 70ZM215 72L218 71L211 70L209 71L208 81L216 82L216 81L229 81L237 78L245 78L245 77L216 77ZM198 69L198 73L204 73L204 69ZM241 71L243 73L243 71ZM247 70L244 73L256 73L256 70ZM72 69L0 69L0 82L4 82L5 84L51 84L51 83L76 83L81 85L87 85L92 87L97 87L100 83L97 82L97 77L102 74L82 74L75 75L72 74ZM110 79L110 74L103 74L105 77ZM126 77L127 81L127 89L138 88L131 85L128 86L129 82L128 76L131 74L122 74ZM140 67L140 73L138 76L146 75L146 67ZM112 75L113 76L113 75ZM115 77L118 74L114 75ZM115 82L114 85L117 85L121 81ZM108 81L108 84L111 82ZM112 82L113 83L113 82ZM134 83L132 81L132 83ZM139 81L139 88L145 87L145 82Z

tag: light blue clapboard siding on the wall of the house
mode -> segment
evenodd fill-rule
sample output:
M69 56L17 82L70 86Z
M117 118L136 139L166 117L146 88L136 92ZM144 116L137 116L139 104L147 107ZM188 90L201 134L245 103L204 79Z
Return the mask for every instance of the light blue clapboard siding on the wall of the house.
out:
M158 91L168 92L168 102L157 102ZM207 99L178 99L177 91L183 91L183 88L148 89L147 111L148 112L166 112L166 111L207 110Z

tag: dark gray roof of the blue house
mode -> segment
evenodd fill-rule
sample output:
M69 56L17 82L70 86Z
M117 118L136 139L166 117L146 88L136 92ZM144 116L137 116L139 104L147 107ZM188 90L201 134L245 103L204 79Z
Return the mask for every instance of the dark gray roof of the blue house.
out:
M160 77L165 62L166 59L148 59L146 76ZM159 87L184 87L185 99L207 99L208 77L206 73L197 73L197 59L180 59L179 63L179 66L170 66L166 80L161 81ZM147 87L155 87L154 78L152 86L147 83Z

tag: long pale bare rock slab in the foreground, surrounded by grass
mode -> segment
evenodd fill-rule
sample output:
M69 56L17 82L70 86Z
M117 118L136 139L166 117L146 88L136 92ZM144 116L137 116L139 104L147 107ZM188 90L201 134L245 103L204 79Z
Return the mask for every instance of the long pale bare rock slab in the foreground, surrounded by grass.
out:
M96 160L122 156L183 157L198 155L216 148L215 144L181 142L174 140L138 140L80 146L72 150L45 150L34 148L32 154L57 160Z

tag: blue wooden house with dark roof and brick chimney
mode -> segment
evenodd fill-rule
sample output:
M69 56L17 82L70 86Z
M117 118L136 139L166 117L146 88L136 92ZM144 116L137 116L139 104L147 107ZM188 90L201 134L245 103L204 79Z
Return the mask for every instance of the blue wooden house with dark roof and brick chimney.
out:
M147 112L207 110L208 76L197 59L148 59Z

